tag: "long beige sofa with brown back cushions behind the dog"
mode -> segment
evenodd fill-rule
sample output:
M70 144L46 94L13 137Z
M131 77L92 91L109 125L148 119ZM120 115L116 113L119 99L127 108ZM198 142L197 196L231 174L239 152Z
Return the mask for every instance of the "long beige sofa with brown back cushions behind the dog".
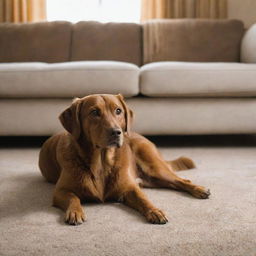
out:
M256 27L237 20L0 25L0 135L51 135L73 97L122 93L146 135L256 132Z

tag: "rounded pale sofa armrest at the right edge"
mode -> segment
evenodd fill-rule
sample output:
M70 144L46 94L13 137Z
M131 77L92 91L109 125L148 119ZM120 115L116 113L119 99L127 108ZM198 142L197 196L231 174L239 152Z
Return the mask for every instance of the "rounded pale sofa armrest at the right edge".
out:
M241 62L256 63L256 24L252 25L242 38Z

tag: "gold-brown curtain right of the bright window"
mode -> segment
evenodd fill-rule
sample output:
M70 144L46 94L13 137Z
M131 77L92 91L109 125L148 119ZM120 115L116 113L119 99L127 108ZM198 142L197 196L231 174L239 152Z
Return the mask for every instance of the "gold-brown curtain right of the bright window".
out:
M141 0L141 21L227 17L227 0Z

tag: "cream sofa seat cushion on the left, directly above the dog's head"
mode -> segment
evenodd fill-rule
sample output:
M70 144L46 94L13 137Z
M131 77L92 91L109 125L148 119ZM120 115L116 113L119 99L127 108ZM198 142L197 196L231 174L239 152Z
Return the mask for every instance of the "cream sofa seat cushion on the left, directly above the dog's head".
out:
M1 98L81 97L94 93L138 94L139 68L115 61L0 64Z

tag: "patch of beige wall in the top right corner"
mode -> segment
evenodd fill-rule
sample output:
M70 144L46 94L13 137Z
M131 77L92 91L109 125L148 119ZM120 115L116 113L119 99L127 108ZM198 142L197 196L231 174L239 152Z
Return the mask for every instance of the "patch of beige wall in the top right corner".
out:
M242 20L247 28L256 23L256 0L228 0L228 18Z

